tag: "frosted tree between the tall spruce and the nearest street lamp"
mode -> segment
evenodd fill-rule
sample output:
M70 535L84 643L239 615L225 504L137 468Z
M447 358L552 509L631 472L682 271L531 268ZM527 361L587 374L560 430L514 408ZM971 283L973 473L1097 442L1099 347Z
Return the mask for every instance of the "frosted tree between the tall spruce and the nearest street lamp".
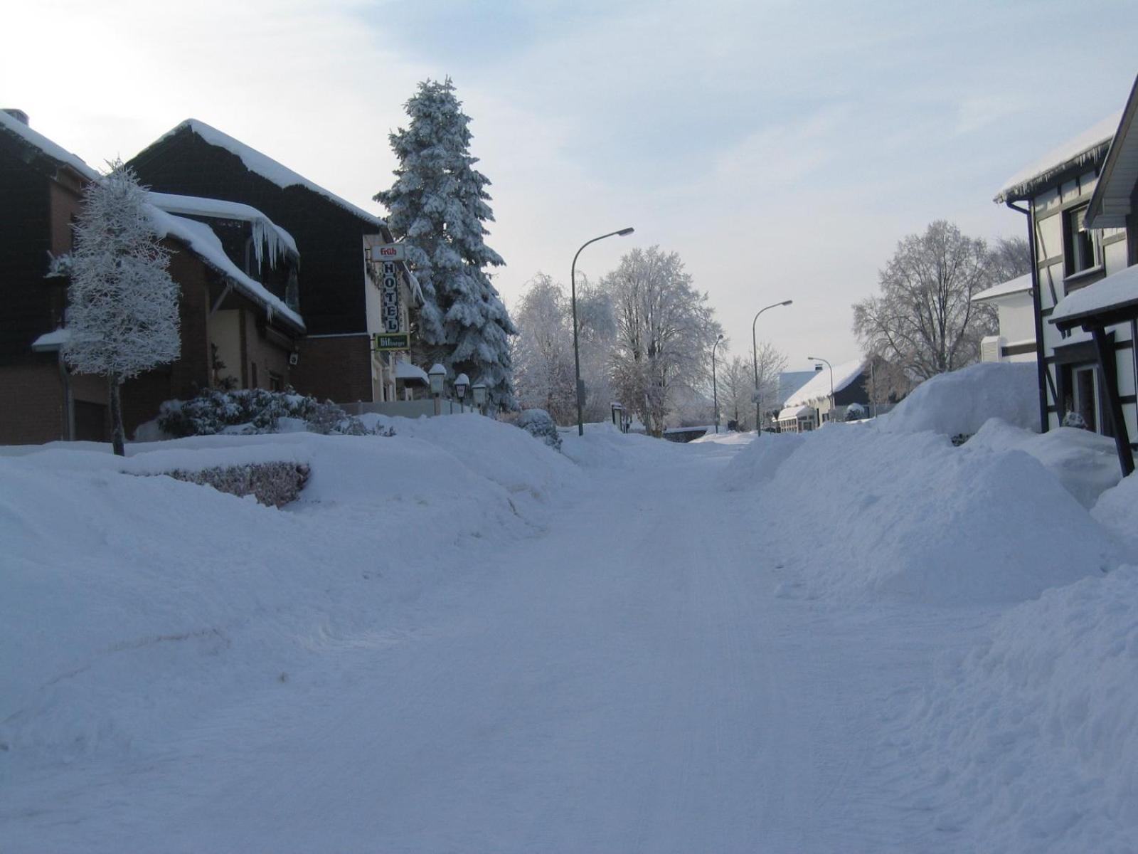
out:
M529 280L513 312L514 387L522 409L544 409L558 424L577 416L572 326L564 290L545 273Z

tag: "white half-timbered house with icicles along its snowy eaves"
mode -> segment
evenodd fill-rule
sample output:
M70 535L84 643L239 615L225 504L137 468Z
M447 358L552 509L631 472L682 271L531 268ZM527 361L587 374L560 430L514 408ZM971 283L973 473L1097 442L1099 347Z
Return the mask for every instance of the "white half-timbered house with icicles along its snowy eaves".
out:
M1131 91L1121 114L1021 170L995 199L1026 215L1036 262L1030 294L1042 429L1064 420L1083 424L1128 449L1138 427L1135 321L1114 314L1096 320L1087 312L1105 307L1090 294L1105 294L1111 285L1104 282L1136 261L1138 240L1129 213L1138 170L1138 140L1131 130L1135 99ZM1096 343L1092 329L1104 317L1110 322L1097 327Z

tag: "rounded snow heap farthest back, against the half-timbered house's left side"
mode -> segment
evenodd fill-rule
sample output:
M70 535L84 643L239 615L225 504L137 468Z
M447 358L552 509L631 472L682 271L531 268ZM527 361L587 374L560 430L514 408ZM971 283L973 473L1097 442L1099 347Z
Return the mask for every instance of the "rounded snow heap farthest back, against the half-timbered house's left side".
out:
M1039 386L1031 362L980 362L926 379L877 418L885 433L976 433L989 418L1039 429Z

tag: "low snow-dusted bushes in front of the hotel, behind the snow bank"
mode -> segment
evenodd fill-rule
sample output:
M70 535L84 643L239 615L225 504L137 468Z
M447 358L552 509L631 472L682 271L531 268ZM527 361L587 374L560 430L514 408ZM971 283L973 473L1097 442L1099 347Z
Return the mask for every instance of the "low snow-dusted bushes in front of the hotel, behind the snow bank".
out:
M282 419L305 425L311 433L369 433L358 418L331 401L321 403L289 389L270 392L249 388L228 392L206 388L189 401L166 401L158 426L172 436L212 436L216 433L277 433Z

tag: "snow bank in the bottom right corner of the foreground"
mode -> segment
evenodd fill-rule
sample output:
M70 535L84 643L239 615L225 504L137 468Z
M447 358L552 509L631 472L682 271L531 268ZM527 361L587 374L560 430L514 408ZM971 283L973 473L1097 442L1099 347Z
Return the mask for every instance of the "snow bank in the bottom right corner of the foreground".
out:
M1046 592L943 663L902 732L954 851L1132 852L1138 568ZM958 836L956 836L958 834ZM982 840L978 847L968 839Z

